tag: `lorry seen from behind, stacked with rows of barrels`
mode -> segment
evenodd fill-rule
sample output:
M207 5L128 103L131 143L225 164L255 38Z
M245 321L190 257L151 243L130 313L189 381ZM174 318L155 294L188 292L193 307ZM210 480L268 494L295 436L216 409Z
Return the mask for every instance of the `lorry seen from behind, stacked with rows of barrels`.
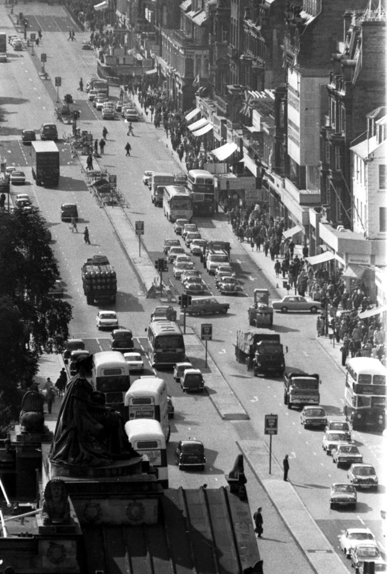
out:
M94 301L116 302L117 277L105 255L93 255L82 266L83 292L88 305Z

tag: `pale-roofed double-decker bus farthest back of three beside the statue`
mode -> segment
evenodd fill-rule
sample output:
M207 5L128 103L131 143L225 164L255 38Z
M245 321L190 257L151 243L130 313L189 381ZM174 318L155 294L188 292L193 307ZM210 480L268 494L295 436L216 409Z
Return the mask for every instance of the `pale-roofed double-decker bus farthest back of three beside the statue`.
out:
M93 355L92 385L105 395L107 406L124 416L125 394L130 387L129 365L119 351L101 351Z

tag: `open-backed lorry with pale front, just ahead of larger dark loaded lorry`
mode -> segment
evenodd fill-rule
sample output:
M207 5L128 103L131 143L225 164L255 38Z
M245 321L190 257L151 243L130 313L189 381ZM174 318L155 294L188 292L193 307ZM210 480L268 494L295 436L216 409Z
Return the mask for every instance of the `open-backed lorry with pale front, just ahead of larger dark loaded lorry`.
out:
M318 374L308 374L296 370L287 373L284 380L284 404L288 409L292 406L320 404L320 377Z

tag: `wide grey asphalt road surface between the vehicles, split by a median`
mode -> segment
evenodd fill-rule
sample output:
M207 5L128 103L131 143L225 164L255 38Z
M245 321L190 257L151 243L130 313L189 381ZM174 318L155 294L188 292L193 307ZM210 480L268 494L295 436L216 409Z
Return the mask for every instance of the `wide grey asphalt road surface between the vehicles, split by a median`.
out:
M150 192L142 183L142 174L146 169L175 173L182 170L182 165L178 158L171 154L170 148L162 145L161 129L157 130L150 123L140 121L134 127L134 136L128 137L127 127L122 119L102 121L101 114L88 102L87 95L77 92L80 76L87 80L96 72L95 53L81 52L77 42L69 42L67 32L73 28L71 20L60 7L50 7L50 10L60 11L60 14L28 16L30 24L35 17L36 28L40 26L44 32L43 41L36 48L35 63L34 57L24 51L22 57L13 58L6 67L2 67L5 82L0 86L0 98L2 113L6 115L7 122L2 125L0 154L7 158L7 165L20 165L26 173L28 183L23 189L13 186L13 195L21 191L29 193L33 203L40 208L48 221L52 233L52 249L65 286L64 296L73 306L72 336L83 338L91 352L108 350L108 335L100 335L97 331L95 317L99 309L114 309L119 317L119 324L130 328L134 334L135 348L142 352L144 358L144 372L156 372L166 380L168 393L173 398L175 407L174 419L170 421L171 439L168 446L170 485L173 487L181 485L192 488L204 483L209 487L218 487L224 484L224 474L230 471L240 452L236 442L255 441L258 438L266 440L267 437L263 436L264 414L277 413L279 433L273 439L273 457L282 464L284 455L290 455L289 478L292 486L333 548L348 565L348 561L339 552L338 536L342 530L365 525L372 530L378 541L382 541L380 509L382 497L385 495L382 479L382 437L373 433L353 432L354 442L363 453L363 459L373 464L380 477L378 491L359 492L355 511L331 510L331 483L345 481L347 471L337 468L332 457L323 451L322 430L304 429L300 425L299 410L286 408L283 404L282 378L253 377L252 372L247 371L246 367L237 363L234 358L237 329L249 329L247 309L252 304L253 289L268 288L271 298L278 298L271 282L261 273L256 254L252 256L249 247L245 249L245 246L237 241L224 219L196 218L195 222L202 237L230 242L232 265L243 288L243 292L238 296L227 297L230 304L227 315L205 317L204 320L202 317L186 317L187 327L198 336L203 321L213 324L213 340L208 345L210 355L224 376L225 384L229 385L249 416L247 421L222 421L210 400L211 373L205 368L202 357L189 356L194 366L202 369L206 383L206 392L195 395L183 394L171 371L154 371L147 362L145 329L150 313L158 301L146 298L133 263L123 250L104 210L89 192L81 165L72 157L68 145L64 142L58 144L61 157L59 187L50 189L34 184L29 167L29 149L21 145L20 137L22 129L33 129L38 133L41 123L53 121L56 91L52 89L52 84L46 89L46 83L36 73L36 69L40 68L39 55L45 51L49 55L46 63L49 76L53 79L54 76L60 75L63 79L60 96L69 92L80 102L80 129L88 130L93 134L93 138L100 139L102 127L107 126L107 145L99 165L110 173L117 174L118 186L126 199L126 211L131 224L134 226L138 219L144 221L143 241L148 255L143 253L143 257L148 256L153 261L163 257L163 239L175 237L173 224L167 222L160 208L151 204ZM81 34L77 32L76 36L81 37ZM87 37L87 34L82 37ZM118 90L113 90L112 97L118 98ZM69 131L68 126L58 123L58 133L61 135L66 131ZM132 153L131 157L127 158L124 145L128 138L131 141ZM60 221L60 205L65 202L77 204L78 233L70 230L68 223ZM85 225L89 228L91 245L84 242ZM84 260L94 254L107 255L116 269L118 297L115 306L99 307L86 303L80 268ZM196 268L201 271L206 282L206 293L217 296L213 277L208 276L198 258L194 259ZM175 294L182 292L181 284L171 273L171 266L164 280L171 282L176 288ZM315 340L315 315L275 313L273 329L280 333L281 342L288 347L287 371L297 368L307 373L319 373L322 379L321 405L330 417L342 415L344 375ZM204 472L178 472L173 464L177 441L189 436L196 437L205 444L207 465ZM249 495L265 497L248 468L247 475L248 486L251 488ZM255 505L252 499L251 504ZM275 546L270 548L274 550ZM299 549L295 551L299 552ZM291 553L291 550L285 551L285 557L286 552ZM304 569L299 569L299 572L309 572L307 562L302 564Z

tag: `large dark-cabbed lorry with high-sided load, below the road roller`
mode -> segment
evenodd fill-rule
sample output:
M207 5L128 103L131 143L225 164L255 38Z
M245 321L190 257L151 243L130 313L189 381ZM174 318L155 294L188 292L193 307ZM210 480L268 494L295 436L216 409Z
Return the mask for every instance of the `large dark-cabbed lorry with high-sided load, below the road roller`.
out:
M255 377L268 374L282 377L285 372L285 356L280 335L269 329L238 329L235 358L239 363L247 363L247 369L252 369Z

